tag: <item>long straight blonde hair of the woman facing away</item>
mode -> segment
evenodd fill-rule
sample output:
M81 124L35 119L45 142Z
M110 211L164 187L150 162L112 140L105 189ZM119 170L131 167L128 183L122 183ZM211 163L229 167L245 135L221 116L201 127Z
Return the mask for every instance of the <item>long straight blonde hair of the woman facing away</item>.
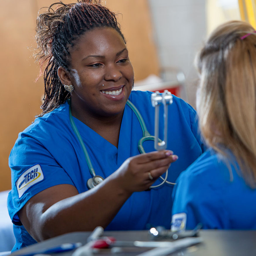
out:
M210 147L231 150L246 183L256 187L256 34L230 21L215 29L197 58L199 124ZM244 39L244 35L251 33ZM230 168L230 167L229 167Z

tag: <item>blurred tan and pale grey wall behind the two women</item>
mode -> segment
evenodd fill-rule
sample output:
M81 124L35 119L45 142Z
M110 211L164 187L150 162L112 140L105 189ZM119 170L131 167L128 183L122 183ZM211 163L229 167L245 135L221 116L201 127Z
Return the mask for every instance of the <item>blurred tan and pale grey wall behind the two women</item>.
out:
M0 191L11 189L8 157L18 133L40 113L43 79L35 83L39 67L29 47L36 46L34 37L37 11L53 2L55 0L0 0ZM122 14L118 19L127 39L135 82L152 74L159 76L164 68L181 70L186 78L187 101L192 106L195 106L197 83L193 65L196 52L207 34L219 23L240 19L237 2L102 1L112 11Z

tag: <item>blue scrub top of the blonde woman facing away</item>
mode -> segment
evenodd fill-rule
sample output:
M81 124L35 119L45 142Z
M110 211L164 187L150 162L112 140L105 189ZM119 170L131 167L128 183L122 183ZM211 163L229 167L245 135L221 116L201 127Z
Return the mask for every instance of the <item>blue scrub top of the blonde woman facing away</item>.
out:
M230 158L209 149L181 173L173 190L172 230L198 223L204 229L256 229L256 190L227 152Z

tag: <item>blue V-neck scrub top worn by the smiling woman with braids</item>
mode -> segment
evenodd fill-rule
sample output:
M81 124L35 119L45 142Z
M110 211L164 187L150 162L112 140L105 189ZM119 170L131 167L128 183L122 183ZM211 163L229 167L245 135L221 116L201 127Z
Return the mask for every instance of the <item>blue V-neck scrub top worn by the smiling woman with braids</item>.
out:
M154 108L150 97L151 92L132 91L129 100L138 108L150 134L154 135ZM160 110L160 138L163 138L163 108ZM118 148L78 119L74 120L96 175L106 178L127 158L139 154L138 141L143 136L142 129L129 106L126 105L124 109ZM153 141L146 141L145 151L155 151L153 144ZM169 106L167 147L179 157L169 169L168 181L171 182L175 182L181 171L204 150L195 110L175 96L173 104ZM32 196L58 184L71 184L79 193L88 190L86 182L91 175L81 144L70 124L67 102L37 118L19 134L9 158L9 166L12 170L12 191L8 197L8 208L14 223L16 250L35 243L17 215ZM155 184L160 182L159 179ZM164 184L158 189L133 193L106 230L144 230L150 225L170 228L172 190L173 186Z

